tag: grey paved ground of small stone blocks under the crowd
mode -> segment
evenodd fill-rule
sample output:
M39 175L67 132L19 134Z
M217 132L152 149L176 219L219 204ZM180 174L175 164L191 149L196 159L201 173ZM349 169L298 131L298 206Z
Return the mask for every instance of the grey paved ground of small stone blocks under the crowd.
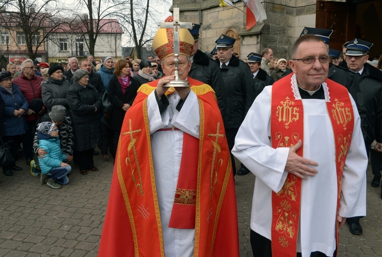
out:
M100 171L80 175L73 165L69 184L54 190L40 185L23 171L13 177L0 173L0 256L97 256L108 201L113 162L95 156ZM369 170L368 216L362 219L363 236L353 236L345 225L340 232L340 254L347 257L382 256L380 188L372 188ZM249 224L255 177L237 176L240 257L251 257ZM314 233L314 232L312 232Z

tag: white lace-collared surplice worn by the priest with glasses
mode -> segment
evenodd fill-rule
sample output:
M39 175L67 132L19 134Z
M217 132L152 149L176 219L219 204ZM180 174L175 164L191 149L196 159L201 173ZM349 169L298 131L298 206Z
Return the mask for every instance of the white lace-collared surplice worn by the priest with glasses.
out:
M325 84L325 83L324 83ZM288 86L288 85L286 85ZM328 89L327 87L324 89ZM271 91L267 86L255 99L235 139L232 153L256 175L251 229L271 240L272 191L278 192L287 177L284 171L289 148L272 148ZM297 90L295 94L300 94ZM326 99L330 91L326 91ZM301 97L301 96L300 96ZM368 158L361 132L361 120L350 96L354 131L342 180L339 215L366 215L366 169ZM302 181L301 216L297 251L303 257L312 252L333 256L336 250L337 172L335 144L326 100L303 99L303 157L319 164L318 174Z

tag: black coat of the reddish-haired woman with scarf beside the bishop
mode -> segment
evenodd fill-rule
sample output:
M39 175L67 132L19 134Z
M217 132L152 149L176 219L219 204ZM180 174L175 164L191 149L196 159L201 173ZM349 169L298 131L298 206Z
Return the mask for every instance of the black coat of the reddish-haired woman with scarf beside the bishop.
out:
M111 127L114 130L120 130L123 123L123 118L125 117L125 111L122 110L122 106L128 103L130 106L133 104L135 96L137 95L137 90L139 88L138 82L134 78L130 78L130 85L126 88L125 94L122 93L122 86L118 81L117 77L112 77L109 81L109 86L107 90L107 97L111 104L114 105L113 112L110 115Z

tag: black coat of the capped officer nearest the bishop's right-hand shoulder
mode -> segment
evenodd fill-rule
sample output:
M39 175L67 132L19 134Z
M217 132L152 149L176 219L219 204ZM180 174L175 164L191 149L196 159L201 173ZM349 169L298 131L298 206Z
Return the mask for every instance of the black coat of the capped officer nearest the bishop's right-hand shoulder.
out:
M220 65L219 59L216 63ZM237 129L255 99L253 76L247 63L232 55L229 64L220 69L225 86L226 114L223 116L226 129Z

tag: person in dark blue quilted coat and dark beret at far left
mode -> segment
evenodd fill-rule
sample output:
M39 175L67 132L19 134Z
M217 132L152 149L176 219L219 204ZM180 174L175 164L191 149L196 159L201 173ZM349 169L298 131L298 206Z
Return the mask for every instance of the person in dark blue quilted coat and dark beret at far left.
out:
M0 96L5 103L5 111L0 119L1 139L8 143L13 158L17 160L17 146L20 145L20 135L25 134L26 122L24 116L28 110L28 101L17 85L11 82L10 71L0 72ZM15 162L2 166L5 176L13 176L14 171L22 170Z

